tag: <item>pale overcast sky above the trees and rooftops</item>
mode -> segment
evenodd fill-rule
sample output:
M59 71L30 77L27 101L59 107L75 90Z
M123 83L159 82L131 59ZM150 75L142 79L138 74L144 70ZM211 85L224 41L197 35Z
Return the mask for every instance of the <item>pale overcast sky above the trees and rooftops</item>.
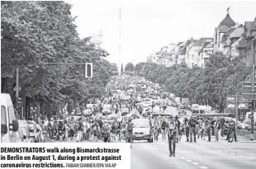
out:
M154 50L190 37L213 37L214 28L226 16L235 22L254 21L256 2L180 2L170 0L66 1L81 38L102 31L102 48L113 63L146 61ZM121 24L119 8L121 7ZM121 25L121 40L119 27ZM119 43L121 41L121 54Z

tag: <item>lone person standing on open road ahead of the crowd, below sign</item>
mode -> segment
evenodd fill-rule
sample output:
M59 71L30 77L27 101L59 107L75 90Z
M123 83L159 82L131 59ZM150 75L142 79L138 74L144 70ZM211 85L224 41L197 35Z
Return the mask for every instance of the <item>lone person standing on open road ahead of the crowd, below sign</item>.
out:
M173 116L170 116L170 120L168 121L168 146L170 155L169 157L175 157L175 148L176 148L176 138L178 138L178 124L173 119ZM173 149L172 149L173 144ZM173 150L173 151L172 151Z

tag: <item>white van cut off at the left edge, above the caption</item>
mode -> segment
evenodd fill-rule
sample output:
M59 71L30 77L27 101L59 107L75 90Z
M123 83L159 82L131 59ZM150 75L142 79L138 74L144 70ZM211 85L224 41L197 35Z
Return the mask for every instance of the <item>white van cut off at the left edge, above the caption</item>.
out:
M11 96L1 93L1 143L17 142L18 129Z

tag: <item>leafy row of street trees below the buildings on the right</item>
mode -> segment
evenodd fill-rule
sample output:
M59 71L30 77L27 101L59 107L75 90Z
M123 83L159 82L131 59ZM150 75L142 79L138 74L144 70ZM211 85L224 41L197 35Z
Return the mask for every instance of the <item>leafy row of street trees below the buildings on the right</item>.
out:
M167 68L148 62L136 64L135 71L176 96L224 110L226 96L240 92L241 82L249 80L251 68L239 57L216 53L210 56L205 68L187 68L186 63Z

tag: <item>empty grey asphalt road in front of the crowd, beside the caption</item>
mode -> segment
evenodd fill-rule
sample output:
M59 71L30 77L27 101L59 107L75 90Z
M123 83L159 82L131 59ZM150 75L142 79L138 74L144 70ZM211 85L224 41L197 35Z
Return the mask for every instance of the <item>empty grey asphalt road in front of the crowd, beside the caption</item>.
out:
M214 139L213 139L214 140ZM255 169L256 143L227 143L197 140L177 144L176 157L169 157L167 141L135 142L131 148L131 169Z

